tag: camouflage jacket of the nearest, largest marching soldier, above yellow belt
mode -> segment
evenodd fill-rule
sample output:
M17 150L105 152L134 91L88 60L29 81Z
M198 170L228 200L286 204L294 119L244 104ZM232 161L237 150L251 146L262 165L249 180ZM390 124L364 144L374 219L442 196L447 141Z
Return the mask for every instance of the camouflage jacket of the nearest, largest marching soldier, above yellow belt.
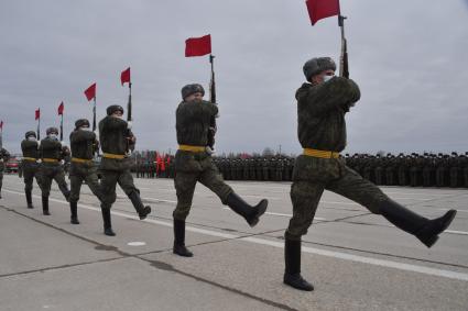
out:
M297 133L303 148L341 152L346 147L345 113L360 98L358 85L341 77L296 91Z

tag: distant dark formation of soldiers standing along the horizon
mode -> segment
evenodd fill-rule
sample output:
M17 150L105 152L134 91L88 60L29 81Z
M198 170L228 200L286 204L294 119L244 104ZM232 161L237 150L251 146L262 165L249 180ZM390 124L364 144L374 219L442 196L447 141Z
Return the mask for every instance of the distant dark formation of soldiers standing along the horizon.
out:
M350 168L380 186L468 188L468 152L450 155L346 154L344 158ZM174 178L173 159L174 156L167 155L162 166L137 153L133 169L139 178ZM225 180L257 181L291 181L294 159L285 155L214 157Z

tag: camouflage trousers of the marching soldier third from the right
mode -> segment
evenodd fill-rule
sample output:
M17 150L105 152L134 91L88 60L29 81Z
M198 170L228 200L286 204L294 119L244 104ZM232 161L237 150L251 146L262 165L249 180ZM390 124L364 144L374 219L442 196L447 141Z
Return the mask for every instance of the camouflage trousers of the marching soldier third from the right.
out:
M102 209L110 209L116 202L117 184L119 184L120 188L122 188L123 192L126 192L128 197L130 197L133 192L140 193L140 190L138 190L133 184L133 176L129 168L123 170L100 169L99 171L101 173L100 189L102 193Z

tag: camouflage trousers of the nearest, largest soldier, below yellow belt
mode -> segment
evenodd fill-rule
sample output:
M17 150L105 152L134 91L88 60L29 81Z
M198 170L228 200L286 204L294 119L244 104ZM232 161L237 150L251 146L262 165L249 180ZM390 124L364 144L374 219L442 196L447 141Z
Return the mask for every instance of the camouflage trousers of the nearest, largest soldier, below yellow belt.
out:
M324 190L341 195L380 213L380 206L390 198L376 185L347 167L342 159L298 156L293 171L291 200L293 216L285 232L289 240L301 240L307 233Z

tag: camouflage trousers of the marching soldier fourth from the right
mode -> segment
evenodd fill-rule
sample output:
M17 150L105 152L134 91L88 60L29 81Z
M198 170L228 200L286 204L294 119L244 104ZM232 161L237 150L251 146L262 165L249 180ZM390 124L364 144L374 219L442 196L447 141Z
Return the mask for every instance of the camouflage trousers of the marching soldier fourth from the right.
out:
M95 164L86 163L72 163L69 171L70 180L70 202L78 202L79 192L81 190L83 181L88 185L91 192L100 200L102 198L99 179L97 174L97 168Z

